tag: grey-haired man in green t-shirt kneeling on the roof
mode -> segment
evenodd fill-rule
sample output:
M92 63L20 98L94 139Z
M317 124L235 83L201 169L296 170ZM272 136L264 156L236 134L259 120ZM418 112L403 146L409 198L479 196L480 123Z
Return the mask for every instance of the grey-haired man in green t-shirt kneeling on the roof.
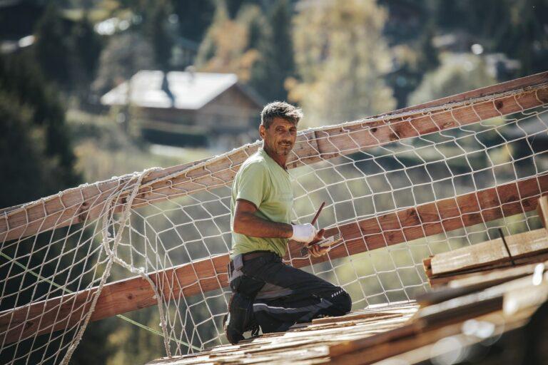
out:
M310 223L293 225L293 191L285 166L295 145L300 109L270 103L260 114L263 147L245 160L234 179L230 202L232 252L225 317L228 341L237 344L245 331L286 331L295 323L350 312L350 296L313 274L282 262L288 240L309 244L323 238ZM310 247L314 257L328 248Z

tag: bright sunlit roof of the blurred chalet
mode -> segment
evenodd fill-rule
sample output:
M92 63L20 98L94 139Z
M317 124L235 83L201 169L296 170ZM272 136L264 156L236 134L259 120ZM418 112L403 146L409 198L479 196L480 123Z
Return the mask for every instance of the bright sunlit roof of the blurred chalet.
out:
M102 96L101 103L125 105L130 94L135 106L198 110L232 86L240 88L260 107L258 98L238 83L234 73L188 71L170 71L166 77L163 71L138 71L131 81L121 83Z

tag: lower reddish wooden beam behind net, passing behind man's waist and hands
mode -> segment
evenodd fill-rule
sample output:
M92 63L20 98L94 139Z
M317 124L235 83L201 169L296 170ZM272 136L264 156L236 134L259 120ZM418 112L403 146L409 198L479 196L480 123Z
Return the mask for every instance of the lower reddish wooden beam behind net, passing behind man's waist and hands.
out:
M338 259L367 250L396 245L428 235L456 230L536 208L539 195L548 192L548 175L508 183L478 192L398 210L380 217L331 228L344 244L318 258L300 257L300 244L290 243L289 257L295 267ZM501 200L499 200L499 197ZM462 214L462 215L461 215ZM288 257L286 257L288 258ZM228 286L228 255L217 255L156 272L149 276L166 300L191 296ZM49 299L0 313L0 341L18 341L35 334L64 329L81 320L96 289ZM156 305L154 292L141 277L103 287L92 321ZM46 315L42 315L46 314Z

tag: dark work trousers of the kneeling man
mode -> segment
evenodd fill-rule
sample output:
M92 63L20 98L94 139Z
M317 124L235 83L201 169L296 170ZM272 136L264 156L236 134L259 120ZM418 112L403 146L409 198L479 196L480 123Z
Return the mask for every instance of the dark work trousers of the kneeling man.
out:
M253 302L263 333L287 331L318 317L342 316L352 307L350 295L341 287L284 264L274 253L245 261L241 271L230 288Z

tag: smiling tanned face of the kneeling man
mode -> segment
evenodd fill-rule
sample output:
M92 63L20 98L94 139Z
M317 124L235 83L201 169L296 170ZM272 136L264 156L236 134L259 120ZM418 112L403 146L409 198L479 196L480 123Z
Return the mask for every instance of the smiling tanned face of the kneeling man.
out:
M267 129L259 126L260 138L265 141L265 148L277 155L289 155L297 138L297 126L283 118L274 118Z

